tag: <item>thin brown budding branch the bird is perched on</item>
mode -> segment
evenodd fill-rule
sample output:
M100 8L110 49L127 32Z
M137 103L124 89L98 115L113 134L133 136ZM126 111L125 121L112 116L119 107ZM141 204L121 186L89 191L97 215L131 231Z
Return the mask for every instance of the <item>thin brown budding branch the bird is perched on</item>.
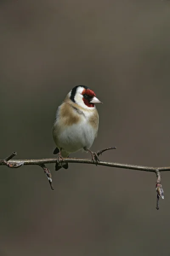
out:
M96 154L99 156L105 151L116 149L116 147L111 148L105 148L100 151L97 151ZM23 159L23 160L11 160L15 155L17 155L16 152L13 152L9 157L5 158L4 160L0 160L0 165L6 165L9 168L19 168L23 165L38 165L40 166L44 172L45 175L48 178L48 181L50 183L51 189L54 189L52 186L52 179L51 179L51 172L49 169L45 166L47 163L57 163L57 158L42 158L42 159ZM108 167L116 167L116 168L123 168L123 169L133 169L133 170L139 170L139 171L145 171L145 172L155 172L156 173L156 192L157 192L157 203L156 203L156 209L159 209L159 198L164 199L164 192L161 185L161 172L170 171L170 166L166 167L150 167L150 166L140 166L140 165L133 165L133 164L127 164L127 163L113 163L113 162L105 162L105 161L93 161L92 159L81 159L81 158L63 158L63 160L60 161L61 163L87 163L87 164L97 164L100 166L108 166Z

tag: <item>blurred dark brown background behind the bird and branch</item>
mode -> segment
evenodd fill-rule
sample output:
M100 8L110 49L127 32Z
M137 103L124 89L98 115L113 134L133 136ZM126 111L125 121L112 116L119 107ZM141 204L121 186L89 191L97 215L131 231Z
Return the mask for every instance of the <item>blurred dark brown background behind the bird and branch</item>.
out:
M0 2L0 158L53 157L72 87L91 87L102 160L170 166L170 1ZM73 157L90 157L77 153ZM170 255L170 172L1 166L0 256Z

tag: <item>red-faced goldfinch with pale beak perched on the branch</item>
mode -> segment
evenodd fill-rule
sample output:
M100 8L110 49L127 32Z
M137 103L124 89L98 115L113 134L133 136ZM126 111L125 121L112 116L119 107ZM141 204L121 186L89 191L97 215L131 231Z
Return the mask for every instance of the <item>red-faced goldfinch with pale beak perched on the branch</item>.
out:
M89 87L78 85L74 87L57 108L52 127L53 139L56 144L54 154L58 154L55 170L62 167L68 169L68 163L63 158L71 153L89 151L92 159L99 161L98 155L90 148L97 137L99 114L96 103L102 103ZM61 163L62 160L62 163Z

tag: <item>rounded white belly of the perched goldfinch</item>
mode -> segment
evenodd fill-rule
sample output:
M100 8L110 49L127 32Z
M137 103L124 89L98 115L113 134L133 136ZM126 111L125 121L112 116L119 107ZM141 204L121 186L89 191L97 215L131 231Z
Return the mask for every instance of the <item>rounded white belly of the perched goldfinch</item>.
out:
M58 136L59 147L73 153L82 148L90 148L96 137L96 131L86 120L68 126Z

